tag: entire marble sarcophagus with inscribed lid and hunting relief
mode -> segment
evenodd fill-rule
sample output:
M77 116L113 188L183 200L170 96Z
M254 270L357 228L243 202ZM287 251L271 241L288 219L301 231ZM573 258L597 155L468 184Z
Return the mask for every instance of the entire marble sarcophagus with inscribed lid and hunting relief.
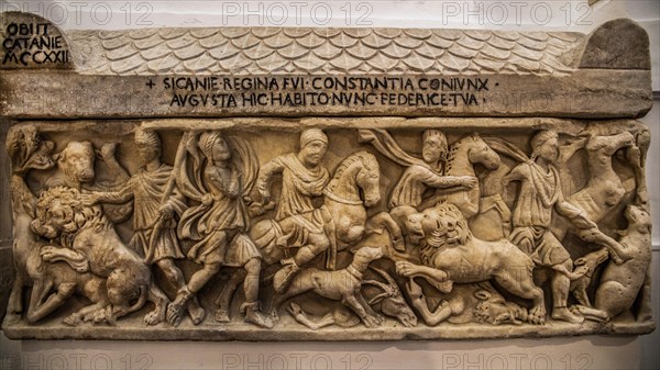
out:
M613 52L608 30L639 35L631 22L592 35L50 26L2 23L4 40L38 38L8 43L0 75L9 337L654 328L650 135L630 120L650 108L648 40L609 67L595 51ZM58 47L56 67L32 58ZM31 83L70 90L19 104ZM76 103L99 87L107 99ZM491 103L516 88L578 105Z

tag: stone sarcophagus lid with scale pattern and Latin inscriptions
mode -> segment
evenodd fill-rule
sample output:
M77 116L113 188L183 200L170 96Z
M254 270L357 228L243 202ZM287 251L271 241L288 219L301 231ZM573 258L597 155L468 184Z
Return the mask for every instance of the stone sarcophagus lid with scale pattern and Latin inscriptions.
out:
M652 104L648 36L629 20L608 22L591 35L414 29L72 31L58 48L21 48L15 43L21 35L8 29L12 21L47 21L3 14L0 32L12 44L0 66L7 69L0 83L10 87L0 91L7 116L350 111L613 119L644 115ZM51 29L47 36L56 37L58 31ZM38 33L43 27L33 30L28 40L44 36ZM37 46L47 53L40 54ZM25 65L19 60L23 56ZM45 61L35 64L33 56ZM25 68L42 72L20 71ZM20 98L14 90L32 93Z

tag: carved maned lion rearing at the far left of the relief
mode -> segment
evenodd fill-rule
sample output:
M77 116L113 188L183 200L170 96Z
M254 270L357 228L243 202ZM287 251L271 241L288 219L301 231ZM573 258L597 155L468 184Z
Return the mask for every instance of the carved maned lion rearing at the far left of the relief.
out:
M162 322L168 300L153 283L148 267L121 242L101 208L84 205L76 189L56 187L40 197L32 229L52 240L51 246L41 248L42 259L64 261L79 273L105 278L111 306L97 307L94 315L106 312L108 321L113 321L140 310L148 299L155 310L144 322Z

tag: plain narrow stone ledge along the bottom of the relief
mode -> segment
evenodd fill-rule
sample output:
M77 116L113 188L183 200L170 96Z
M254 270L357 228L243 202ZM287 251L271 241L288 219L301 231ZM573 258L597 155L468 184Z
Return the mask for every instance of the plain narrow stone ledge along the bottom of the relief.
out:
M436 327L419 324L406 328L393 321L382 327L355 328L328 327L311 332L290 317L283 317L273 329L260 329L246 323L219 324L207 321L194 326L184 322L172 328L167 324L140 327L140 316L122 319L120 326L66 326L56 321L43 326L30 326L24 321L6 318L2 329L10 339L77 339L77 340L201 340L201 341L352 341L352 340L428 340L428 339L498 339L498 338L546 338L559 335L644 335L653 332L653 321L639 323L595 323L570 324L550 322L544 325L499 325L441 323ZM298 328L292 328L296 327Z

